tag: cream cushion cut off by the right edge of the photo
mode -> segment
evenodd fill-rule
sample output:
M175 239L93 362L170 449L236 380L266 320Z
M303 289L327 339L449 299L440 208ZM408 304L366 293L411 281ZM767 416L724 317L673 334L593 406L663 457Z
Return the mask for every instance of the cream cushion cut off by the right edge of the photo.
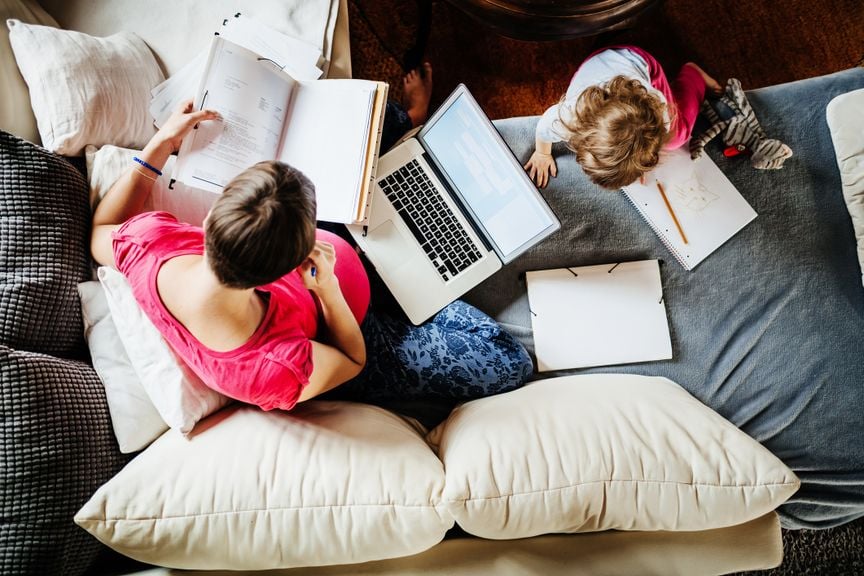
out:
M826 108L840 168L843 200L852 218L858 265L864 282L864 89L837 96Z

